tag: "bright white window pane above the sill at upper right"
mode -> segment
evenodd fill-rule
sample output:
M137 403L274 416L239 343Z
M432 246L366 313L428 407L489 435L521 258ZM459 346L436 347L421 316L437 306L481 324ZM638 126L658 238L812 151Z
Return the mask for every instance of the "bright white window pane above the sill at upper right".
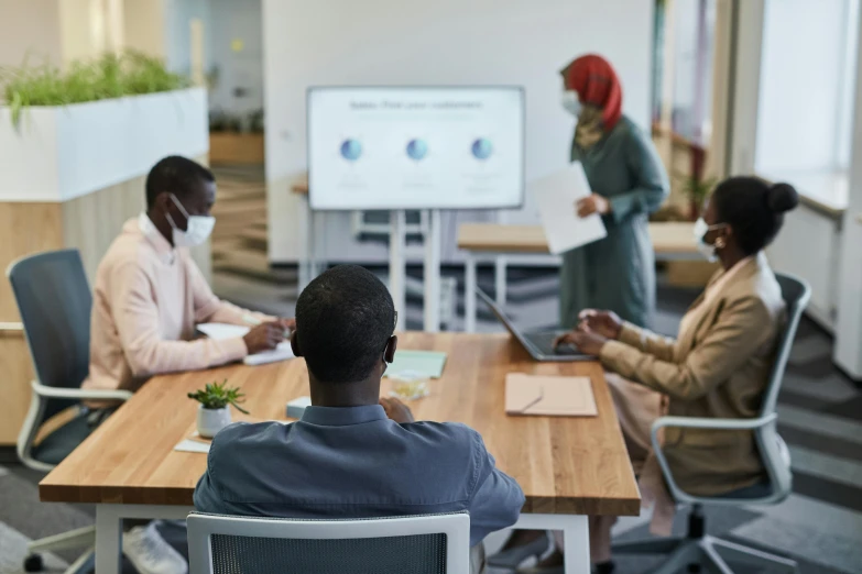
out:
M837 167L849 2L766 1L757 173Z

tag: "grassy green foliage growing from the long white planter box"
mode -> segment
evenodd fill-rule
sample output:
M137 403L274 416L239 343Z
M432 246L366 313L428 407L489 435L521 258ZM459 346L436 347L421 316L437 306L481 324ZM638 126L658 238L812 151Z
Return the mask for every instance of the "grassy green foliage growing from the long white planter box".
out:
M85 101L171 91L190 86L188 78L170 71L164 62L140 52L105 54L73 62L61 71L51 64L0 68L2 102L18 126L32 106L66 106Z

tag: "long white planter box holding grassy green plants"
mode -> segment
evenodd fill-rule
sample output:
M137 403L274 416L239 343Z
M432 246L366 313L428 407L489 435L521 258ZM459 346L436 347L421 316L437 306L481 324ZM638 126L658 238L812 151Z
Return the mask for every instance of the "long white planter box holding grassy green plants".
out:
M0 107L0 201L66 201L209 150L204 88L30 108Z

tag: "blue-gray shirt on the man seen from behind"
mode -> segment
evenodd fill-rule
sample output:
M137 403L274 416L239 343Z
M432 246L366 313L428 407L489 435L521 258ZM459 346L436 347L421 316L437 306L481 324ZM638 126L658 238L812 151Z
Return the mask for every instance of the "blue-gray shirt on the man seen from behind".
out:
M467 510L470 544L517 520L524 494L481 435L449 422L399 424L373 405L308 407L293 424L236 423L209 449L203 512L374 518Z

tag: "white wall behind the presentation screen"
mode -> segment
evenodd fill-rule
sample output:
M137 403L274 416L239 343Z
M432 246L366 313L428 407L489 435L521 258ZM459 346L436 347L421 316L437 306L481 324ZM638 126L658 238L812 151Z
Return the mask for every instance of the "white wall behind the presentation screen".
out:
M626 113L648 125L652 23L645 0L263 0L270 258L304 253L302 201L285 181L306 169L307 86L523 85L531 180L568 162L574 122L559 106L558 71L580 54L614 64ZM510 222L535 218L531 203ZM357 252L347 214L327 220L331 256L384 253Z

